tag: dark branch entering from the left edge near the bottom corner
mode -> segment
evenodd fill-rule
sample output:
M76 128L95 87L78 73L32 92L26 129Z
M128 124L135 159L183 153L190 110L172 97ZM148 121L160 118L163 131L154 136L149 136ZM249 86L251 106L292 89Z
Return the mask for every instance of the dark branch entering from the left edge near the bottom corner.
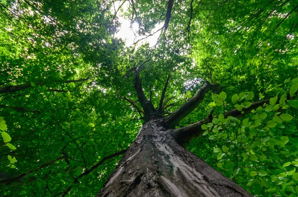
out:
M30 174L31 172L38 171L38 170L40 170L40 169L42 169L42 168L44 168L44 167L47 167L47 166L53 164L53 163L56 162L56 161L59 161L59 160L65 159L65 158L67 158L67 154L64 154L64 155L62 155L62 156L60 156L60 157L57 157L57 158L55 158L55 159L53 159L53 160L47 161L47 162L45 162L44 164L42 164L42 165L40 165L40 166L38 166L38 167L36 167L36 168L33 168L33 169L31 169L31 170L28 170L28 171L26 171L26 172L24 172L24 173L21 173L21 174L12 176L12 177L8 177L8 178L0 179L0 184L13 183L13 182L17 181L18 179L21 179L21 178L27 176L27 175Z

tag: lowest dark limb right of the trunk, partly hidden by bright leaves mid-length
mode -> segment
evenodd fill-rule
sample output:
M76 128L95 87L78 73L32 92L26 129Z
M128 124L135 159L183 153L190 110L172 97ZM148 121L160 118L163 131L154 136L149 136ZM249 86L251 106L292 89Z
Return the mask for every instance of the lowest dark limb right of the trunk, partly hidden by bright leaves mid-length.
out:
M253 102L250 107L243 108L242 111L244 113L241 113L241 111L238 111L236 108L232 109L224 114L224 117L233 116L233 117L241 117L244 116L247 113L250 113L252 109L256 109L259 106L263 106L264 103L269 103L269 99L267 100L261 100L257 102ZM179 141L180 144L185 145L194 140L195 138L201 136L205 130L203 130L201 127L203 124L207 124L212 121L212 117L207 117L203 120L200 120L199 122L196 122L194 124L188 125L186 127L176 129L172 131L172 134L175 136L175 138Z

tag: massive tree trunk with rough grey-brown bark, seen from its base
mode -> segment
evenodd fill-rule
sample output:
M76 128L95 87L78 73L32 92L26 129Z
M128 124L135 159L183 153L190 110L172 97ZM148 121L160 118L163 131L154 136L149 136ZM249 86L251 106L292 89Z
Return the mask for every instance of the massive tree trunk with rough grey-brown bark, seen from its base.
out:
M145 123L97 197L252 197L171 131L162 118Z

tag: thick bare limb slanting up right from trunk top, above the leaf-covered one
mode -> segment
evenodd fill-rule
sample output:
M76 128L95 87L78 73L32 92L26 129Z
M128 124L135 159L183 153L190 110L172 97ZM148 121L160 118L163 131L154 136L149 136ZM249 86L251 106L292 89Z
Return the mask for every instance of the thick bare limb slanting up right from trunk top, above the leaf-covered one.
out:
M166 124L169 128L175 128L177 124L188 114L190 114L204 99L206 93L210 90L216 90L219 88L217 84L211 84L208 81L205 82L205 85L201 87L196 94L184 103L179 109L172 113L169 118L166 120Z

